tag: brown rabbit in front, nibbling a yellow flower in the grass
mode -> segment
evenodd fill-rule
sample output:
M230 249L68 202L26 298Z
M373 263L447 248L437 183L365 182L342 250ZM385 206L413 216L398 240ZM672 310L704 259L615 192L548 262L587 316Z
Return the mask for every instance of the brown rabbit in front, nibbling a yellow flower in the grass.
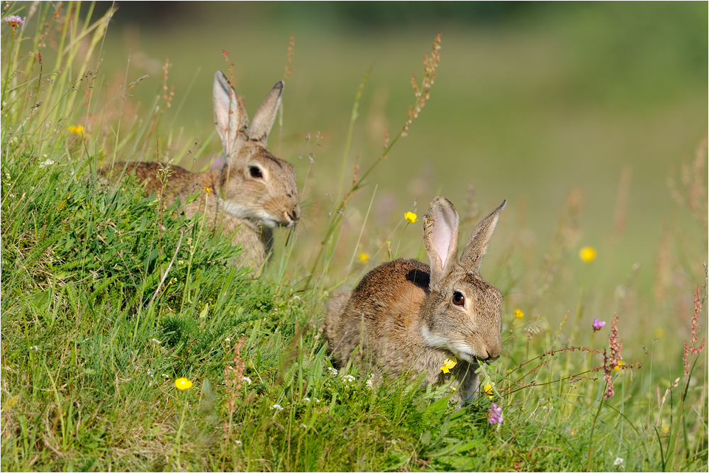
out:
M456 399L470 399L478 363L502 351L502 295L479 268L506 202L478 224L458 261L458 213L445 197L433 199L423 219L430 267L416 260L384 263L352 292L328 301L324 335L337 365L346 365L359 346L355 360L376 373L452 382ZM443 363L453 357L457 365L444 373Z

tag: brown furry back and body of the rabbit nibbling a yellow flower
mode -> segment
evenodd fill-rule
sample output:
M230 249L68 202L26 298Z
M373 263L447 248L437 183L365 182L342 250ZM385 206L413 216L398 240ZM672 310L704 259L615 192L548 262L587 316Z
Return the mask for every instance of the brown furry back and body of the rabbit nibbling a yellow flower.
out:
M328 352L346 365L359 345L358 360L402 372L423 345L418 333L428 296L430 267L416 260L394 260L367 273L350 294L328 304L324 335Z

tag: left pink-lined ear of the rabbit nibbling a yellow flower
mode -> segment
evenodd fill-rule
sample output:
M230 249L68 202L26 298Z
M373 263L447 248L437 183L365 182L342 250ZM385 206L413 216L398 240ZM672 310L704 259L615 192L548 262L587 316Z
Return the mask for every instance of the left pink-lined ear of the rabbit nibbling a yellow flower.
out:
M431 260L431 286L439 286L458 259L458 213L445 197L436 197L423 218L423 241Z

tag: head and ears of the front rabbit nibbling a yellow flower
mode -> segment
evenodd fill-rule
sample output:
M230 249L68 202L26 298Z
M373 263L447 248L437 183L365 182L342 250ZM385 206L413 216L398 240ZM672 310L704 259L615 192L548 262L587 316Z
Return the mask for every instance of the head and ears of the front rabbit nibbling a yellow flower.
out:
M423 219L431 274L421 335L428 345L470 363L496 360L502 352L502 295L482 279L479 268L506 202L478 224L460 260L458 213L453 204L436 197Z

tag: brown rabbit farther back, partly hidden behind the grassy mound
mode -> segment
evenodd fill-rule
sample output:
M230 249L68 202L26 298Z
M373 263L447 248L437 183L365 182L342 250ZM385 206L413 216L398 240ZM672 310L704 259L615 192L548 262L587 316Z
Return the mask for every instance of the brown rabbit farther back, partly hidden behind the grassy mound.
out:
M224 232L235 233L232 244L244 250L240 263L258 269L271 250L272 228L293 227L301 214L294 167L266 148L283 87L282 81L276 83L249 126L246 111L225 75L214 74L214 123L225 157L220 169L193 174L172 166L164 189L158 178L162 165L155 162L118 163L99 172L113 181L124 173L135 173L147 191L162 191L172 200L179 197L184 202L195 191L207 194L186 206L186 216L204 212Z

